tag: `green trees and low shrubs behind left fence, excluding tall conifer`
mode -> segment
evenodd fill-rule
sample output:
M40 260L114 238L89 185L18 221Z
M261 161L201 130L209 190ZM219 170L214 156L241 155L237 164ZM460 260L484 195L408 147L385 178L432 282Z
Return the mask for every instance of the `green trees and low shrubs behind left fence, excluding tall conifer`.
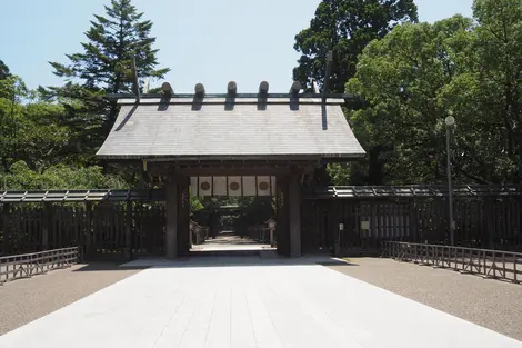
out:
M38 100L13 74L0 80L0 95L2 188L129 187L121 179L122 173L108 176L99 167L83 167L88 162L82 160L82 151L88 143L84 139L89 125L73 106Z

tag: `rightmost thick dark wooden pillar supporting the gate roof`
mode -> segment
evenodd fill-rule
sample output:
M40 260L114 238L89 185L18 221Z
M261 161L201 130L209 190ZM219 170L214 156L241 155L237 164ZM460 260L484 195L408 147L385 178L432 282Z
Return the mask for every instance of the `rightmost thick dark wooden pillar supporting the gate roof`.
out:
M291 176L289 182L290 257L301 257L301 182Z

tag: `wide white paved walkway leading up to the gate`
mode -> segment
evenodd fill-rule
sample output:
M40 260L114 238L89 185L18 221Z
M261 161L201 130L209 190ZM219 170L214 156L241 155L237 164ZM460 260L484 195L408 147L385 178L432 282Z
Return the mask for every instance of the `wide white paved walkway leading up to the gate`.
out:
M230 260L160 262L1 336L0 347L522 347L310 261Z

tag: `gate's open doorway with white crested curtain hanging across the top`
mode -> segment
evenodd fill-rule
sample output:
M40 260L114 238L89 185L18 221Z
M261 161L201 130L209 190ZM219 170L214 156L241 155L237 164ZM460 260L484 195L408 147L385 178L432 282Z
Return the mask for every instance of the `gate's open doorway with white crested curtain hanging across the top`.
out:
M191 178L191 255L275 250L275 178Z

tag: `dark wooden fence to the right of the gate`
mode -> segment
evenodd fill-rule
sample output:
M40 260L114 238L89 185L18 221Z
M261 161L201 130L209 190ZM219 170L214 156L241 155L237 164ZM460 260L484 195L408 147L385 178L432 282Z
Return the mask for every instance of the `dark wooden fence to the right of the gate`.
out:
M522 249L521 210L520 197L455 199L455 245ZM302 205L304 252L337 242L342 249L379 248L384 240L450 243L449 226L445 197L308 199Z

